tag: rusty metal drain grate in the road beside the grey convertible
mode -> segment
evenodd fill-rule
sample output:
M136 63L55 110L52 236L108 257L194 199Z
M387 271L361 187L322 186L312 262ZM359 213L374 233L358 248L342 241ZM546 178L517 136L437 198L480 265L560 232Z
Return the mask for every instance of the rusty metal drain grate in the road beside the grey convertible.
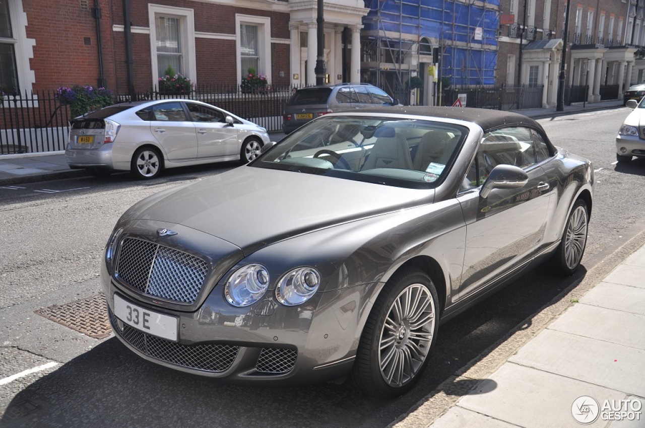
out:
M64 305L38 309L34 313L95 339L106 338L112 333L103 293Z

